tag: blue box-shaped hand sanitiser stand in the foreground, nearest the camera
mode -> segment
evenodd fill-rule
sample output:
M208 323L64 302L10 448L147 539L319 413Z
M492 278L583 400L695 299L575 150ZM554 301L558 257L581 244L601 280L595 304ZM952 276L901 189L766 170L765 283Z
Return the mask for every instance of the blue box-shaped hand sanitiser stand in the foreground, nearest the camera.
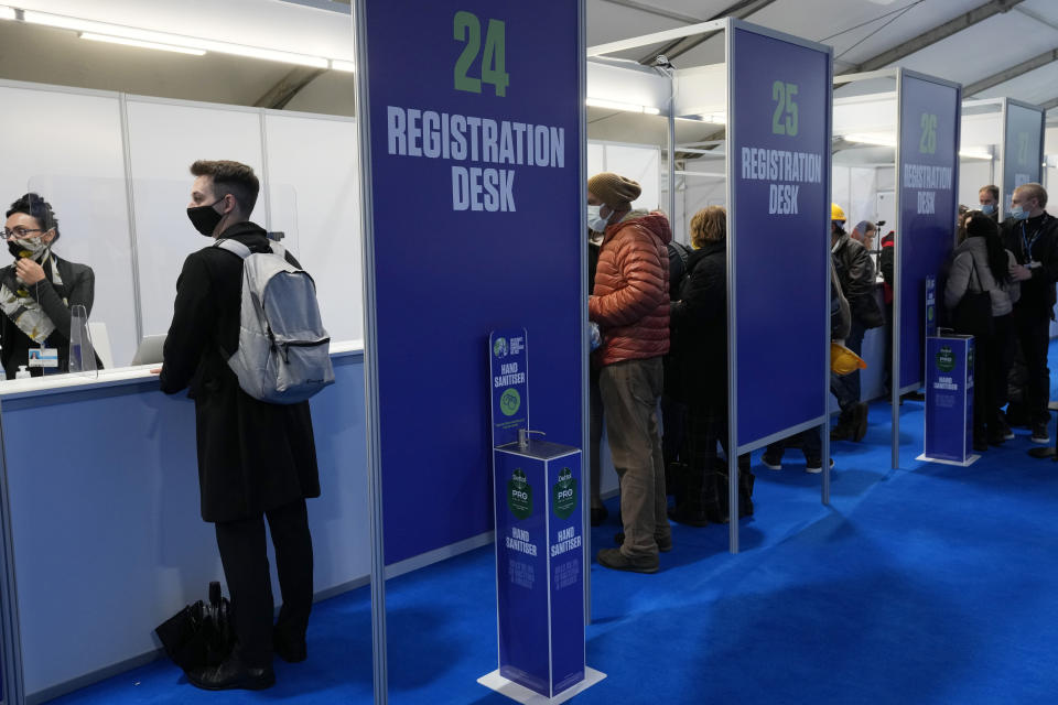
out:
M499 673L546 697L584 680L580 451L494 453Z

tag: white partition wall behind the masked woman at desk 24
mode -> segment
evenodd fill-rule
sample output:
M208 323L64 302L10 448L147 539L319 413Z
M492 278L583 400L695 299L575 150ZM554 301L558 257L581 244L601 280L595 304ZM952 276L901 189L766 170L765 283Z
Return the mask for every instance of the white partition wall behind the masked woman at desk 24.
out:
M0 204L28 191L52 204L55 252L93 268L90 318L106 325L117 366L168 330L183 261L209 243L185 214L197 159L255 169L253 220L282 231L312 273L332 339L363 337L361 317L343 314L363 310L354 119L14 82L0 82L0 100L11 107L0 112ZM613 159L625 152L645 163L630 147Z

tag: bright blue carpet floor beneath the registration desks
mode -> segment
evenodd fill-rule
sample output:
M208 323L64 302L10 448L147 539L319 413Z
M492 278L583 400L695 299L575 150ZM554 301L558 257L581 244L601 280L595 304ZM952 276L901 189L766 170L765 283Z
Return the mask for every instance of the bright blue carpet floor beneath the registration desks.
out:
M1025 430L969 468L915 462L908 402L890 470L889 414L872 404L864 442L832 446L830 507L799 451L780 471L755 465L738 555L726 527L676 527L656 575L593 562L587 663L607 677L572 702L1058 702L1058 464L1026 455ZM511 702L476 683L496 668L493 566L489 546L390 581L390 702ZM270 691L205 693L159 661L53 702L369 703L369 601L321 603L310 660L277 662Z

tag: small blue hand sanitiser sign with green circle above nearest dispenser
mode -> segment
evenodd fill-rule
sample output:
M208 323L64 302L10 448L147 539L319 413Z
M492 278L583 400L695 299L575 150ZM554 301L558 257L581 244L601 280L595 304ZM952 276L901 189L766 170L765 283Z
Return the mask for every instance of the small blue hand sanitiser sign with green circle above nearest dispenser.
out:
M529 351L526 329L494 330L488 336L493 388L493 445L518 440L529 427Z

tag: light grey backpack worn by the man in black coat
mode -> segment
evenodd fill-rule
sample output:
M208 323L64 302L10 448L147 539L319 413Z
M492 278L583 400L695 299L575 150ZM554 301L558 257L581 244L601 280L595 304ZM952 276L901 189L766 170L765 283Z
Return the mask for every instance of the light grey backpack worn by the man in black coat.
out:
M271 252L251 252L238 240L215 243L242 259L239 347L224 355L247 394L295 404L334 383L331 338L312 278L287 261L283 246L269 245Z

